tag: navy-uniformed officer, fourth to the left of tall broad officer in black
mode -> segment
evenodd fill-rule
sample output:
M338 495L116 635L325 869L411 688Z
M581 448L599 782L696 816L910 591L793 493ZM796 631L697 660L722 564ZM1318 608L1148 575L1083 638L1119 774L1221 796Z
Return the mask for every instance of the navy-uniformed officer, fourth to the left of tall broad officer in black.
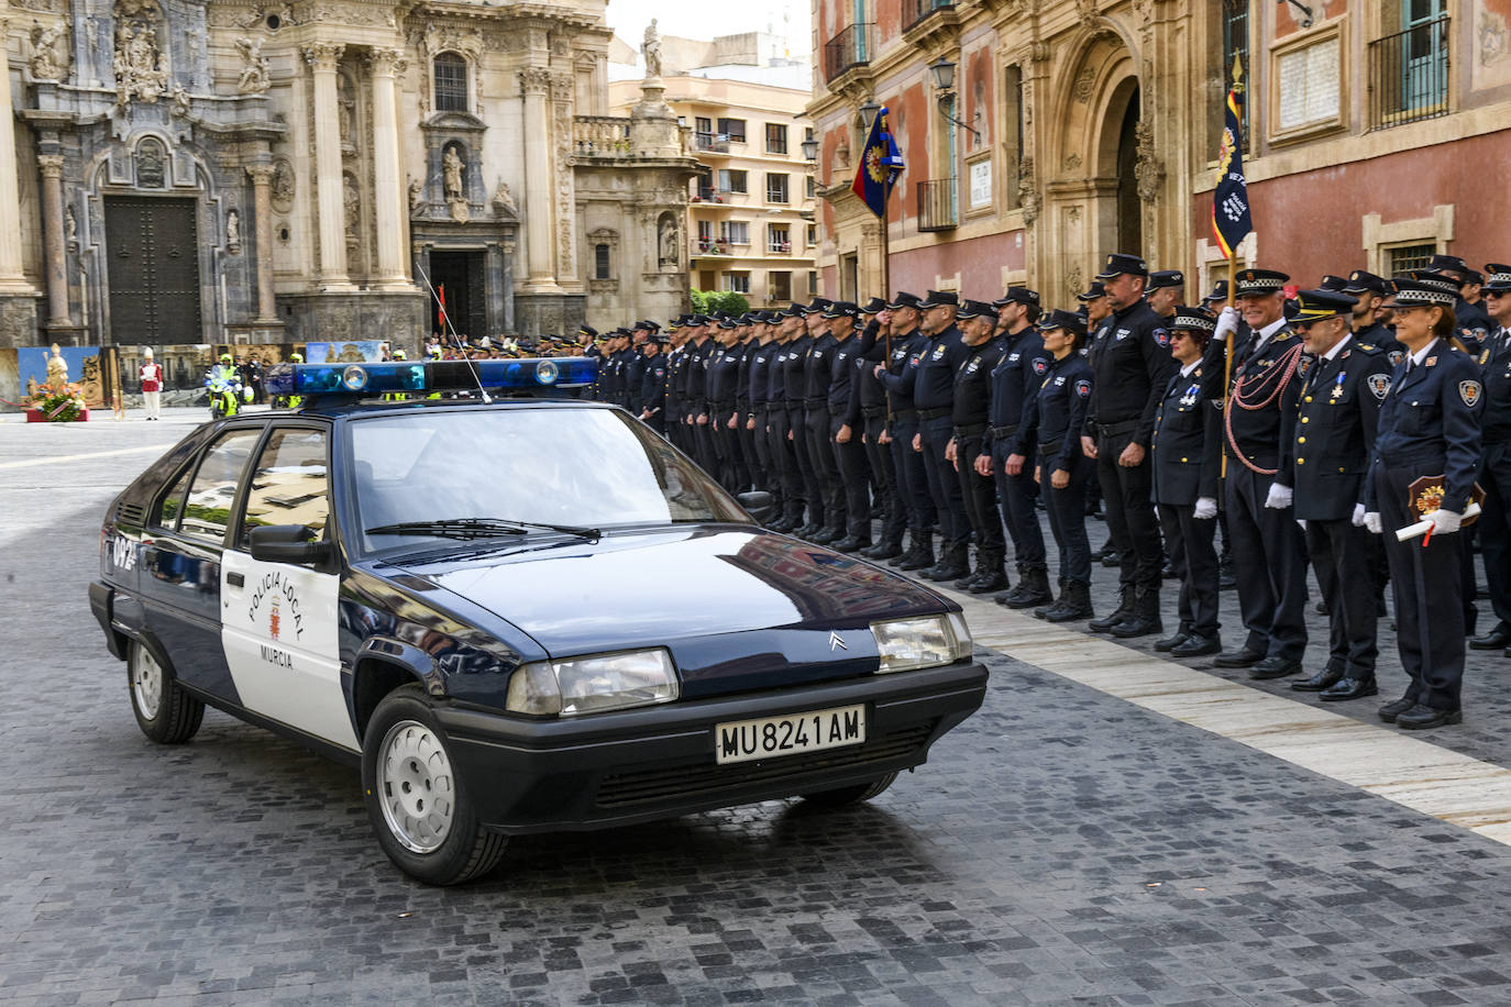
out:
M966 343L955 328L959 297L953 291L931 290L919 306L923 309L920 332L928 337L913 382L913 402L919 411L914 450L923 453L929 495L940 516L944 542L940 560L923 572L934 581L958 580L970 571L970 519L961 498L959 479L946 457L953 436L955 371L966 359Z

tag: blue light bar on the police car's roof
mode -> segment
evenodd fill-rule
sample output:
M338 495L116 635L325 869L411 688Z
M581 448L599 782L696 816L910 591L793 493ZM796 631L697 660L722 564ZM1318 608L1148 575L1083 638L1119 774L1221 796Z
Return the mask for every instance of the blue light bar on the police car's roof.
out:
M263 377L269 396L381 396L385 393L585 388L598 374L589 356L491 361L387 361L382 364L275 364Z

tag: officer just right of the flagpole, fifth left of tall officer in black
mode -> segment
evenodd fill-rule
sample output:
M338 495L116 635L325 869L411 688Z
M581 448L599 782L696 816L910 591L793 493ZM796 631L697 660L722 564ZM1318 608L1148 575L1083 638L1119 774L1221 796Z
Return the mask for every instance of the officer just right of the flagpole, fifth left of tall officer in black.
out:
M938 510L929 492L923 453L913 444L919 435L919 409L913 399L917 386L919 364L929 347L929 338L919 331L923 313L919 296L905 290L887 303L887 325L891 328L891 352L884 365L872 373L887 390L891 405L891 467L898 476L904 504L908 509L908 548L893 557L891 565L904 571L934 566L934 524Z

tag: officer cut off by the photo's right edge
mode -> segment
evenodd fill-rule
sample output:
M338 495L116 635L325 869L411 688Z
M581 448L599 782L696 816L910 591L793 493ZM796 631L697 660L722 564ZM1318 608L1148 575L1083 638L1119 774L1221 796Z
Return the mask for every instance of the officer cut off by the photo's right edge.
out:
M1479 350L1485 400L1479 485L1485 512L1476 527L1496 625L1469 646L1503 649L1511 657L1511 266L1491 263L1485 272L1490 275L1482 293L1494 328Z

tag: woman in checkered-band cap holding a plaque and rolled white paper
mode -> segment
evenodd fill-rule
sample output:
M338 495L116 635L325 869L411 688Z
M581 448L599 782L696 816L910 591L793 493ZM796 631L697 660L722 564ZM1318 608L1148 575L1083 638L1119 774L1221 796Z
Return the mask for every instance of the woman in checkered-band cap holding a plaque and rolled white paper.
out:
M1363 521L1384 534L1396 646L1411 676L1405 694L1380 708L1380 719L1416 731L1463 720L1464 536L1457 533L1479 471L1482 386L1473 359L1449 341L1458 294L1452 281L1417 276L1396 279L1395 288L1396 338L1407 358L1380 406ZM1416 522L1411 485L1423 476L1443 480L1438 509L1431 510L1431 501L1419 507L1432 530L1398 542L1396 528Z

